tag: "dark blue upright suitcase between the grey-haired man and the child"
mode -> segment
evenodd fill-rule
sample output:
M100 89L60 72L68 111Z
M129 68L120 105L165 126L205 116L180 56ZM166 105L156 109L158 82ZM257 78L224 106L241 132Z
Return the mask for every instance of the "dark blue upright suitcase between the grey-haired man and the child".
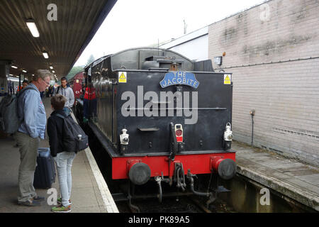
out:
M50 155L50 148L38 148L33 186L38 189L50 189L52 182L55 182L55 164Z

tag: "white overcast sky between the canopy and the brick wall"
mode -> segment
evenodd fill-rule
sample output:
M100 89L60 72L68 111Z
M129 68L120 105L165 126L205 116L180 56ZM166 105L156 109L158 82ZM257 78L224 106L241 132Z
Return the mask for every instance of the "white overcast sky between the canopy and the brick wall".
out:
M77 65L128 48L162 43L191 33L264 0L118 0Z

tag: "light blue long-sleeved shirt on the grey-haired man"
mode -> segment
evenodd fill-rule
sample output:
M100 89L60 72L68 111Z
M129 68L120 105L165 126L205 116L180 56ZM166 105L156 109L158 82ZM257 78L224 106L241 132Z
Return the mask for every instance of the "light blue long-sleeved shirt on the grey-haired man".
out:
M23 118L23 123L21 123L18 131L26 133L32 138L40 137L44 140L45 125L47 123L45 107L43 106L38 88L33 83L28 85L28 87L30 86L37 90L27 90L19 97L19 118Z

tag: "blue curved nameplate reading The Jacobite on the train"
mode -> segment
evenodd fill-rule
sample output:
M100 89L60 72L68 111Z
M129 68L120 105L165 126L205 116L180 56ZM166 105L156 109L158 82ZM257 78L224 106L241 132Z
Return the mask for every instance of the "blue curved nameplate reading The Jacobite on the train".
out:
M187 85L198 88L199 82L195 74L191 72L167 72L159 84L162 88L172 85Z

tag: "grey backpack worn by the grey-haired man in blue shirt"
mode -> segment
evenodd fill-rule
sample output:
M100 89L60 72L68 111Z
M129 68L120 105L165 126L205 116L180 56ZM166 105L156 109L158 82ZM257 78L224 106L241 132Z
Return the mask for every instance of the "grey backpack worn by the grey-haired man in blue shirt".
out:
M0 103L0 130L4 133L15 133L23 122L23 118L18 116L19 96L26 90L35 90L33 87L26 87L18 94L9 94L5 96Z

